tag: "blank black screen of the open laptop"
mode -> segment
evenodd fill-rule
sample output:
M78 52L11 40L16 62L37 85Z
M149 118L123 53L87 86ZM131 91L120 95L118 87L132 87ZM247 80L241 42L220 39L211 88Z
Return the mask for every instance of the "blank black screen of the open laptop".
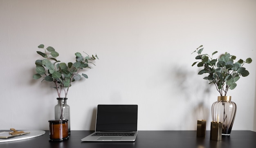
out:
M137 105L98 105L96 132L137 131Z

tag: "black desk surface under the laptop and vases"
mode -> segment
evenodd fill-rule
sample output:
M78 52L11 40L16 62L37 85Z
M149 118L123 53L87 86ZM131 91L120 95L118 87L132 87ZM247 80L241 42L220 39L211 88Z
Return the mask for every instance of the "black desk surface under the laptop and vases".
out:
M92 131L72 130L70 138L61 142L49 142L49 131L32 139L3 142L0 148L256 148L256 132L233 130L222 141L196 137L194 130L138 131L135 142L81 142Z

